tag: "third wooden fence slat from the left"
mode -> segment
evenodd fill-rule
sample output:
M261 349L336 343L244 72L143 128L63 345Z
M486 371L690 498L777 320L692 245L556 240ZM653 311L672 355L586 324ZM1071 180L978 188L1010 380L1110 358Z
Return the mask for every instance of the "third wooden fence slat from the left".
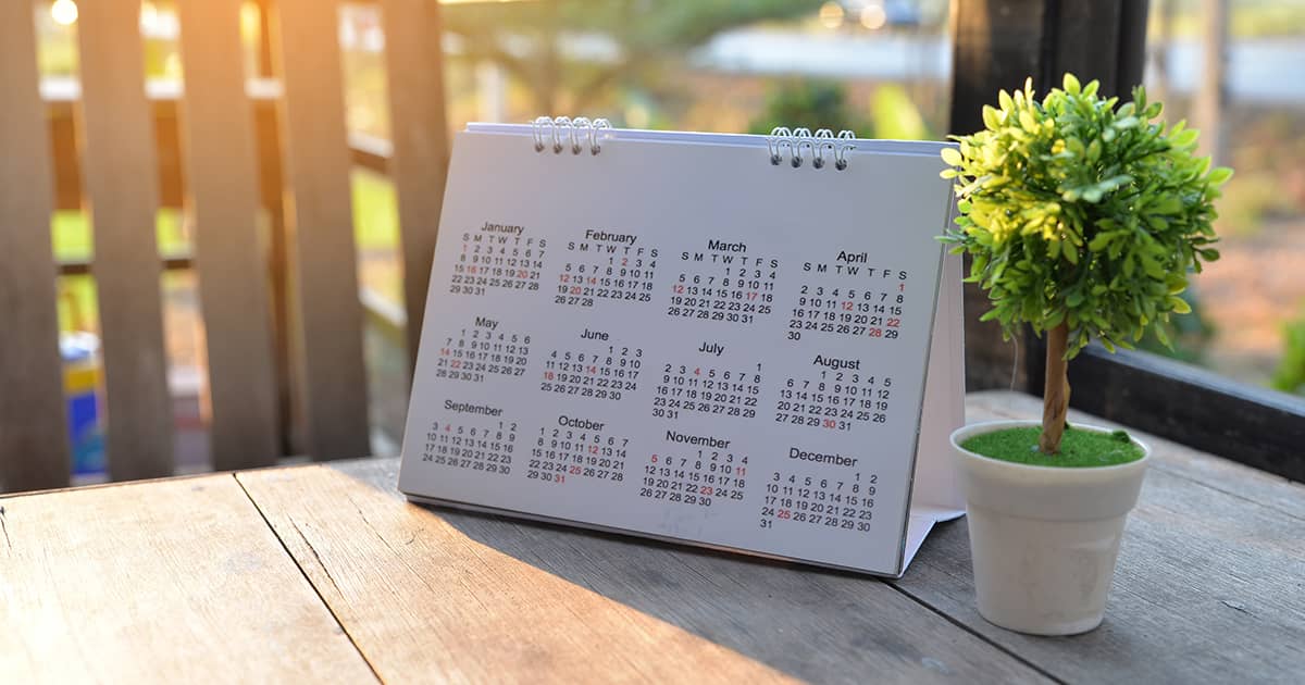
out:
M213 466L269 466L279 446L278 407L240 0L181 0L177 13L183 164L207 339Z

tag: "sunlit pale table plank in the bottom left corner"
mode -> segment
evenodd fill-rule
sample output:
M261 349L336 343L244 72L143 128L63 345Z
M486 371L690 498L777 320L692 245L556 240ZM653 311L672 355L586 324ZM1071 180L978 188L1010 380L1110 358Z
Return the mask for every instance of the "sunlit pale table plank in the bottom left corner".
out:
M365 682L230 475L0 498L5 682Z

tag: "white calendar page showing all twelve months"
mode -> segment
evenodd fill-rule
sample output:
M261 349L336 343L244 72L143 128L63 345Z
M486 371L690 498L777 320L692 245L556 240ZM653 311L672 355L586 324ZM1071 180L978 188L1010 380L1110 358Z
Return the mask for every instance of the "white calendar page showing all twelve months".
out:
M900 574L941 144L835 171L750 136L493 129L454 145L399 489Z

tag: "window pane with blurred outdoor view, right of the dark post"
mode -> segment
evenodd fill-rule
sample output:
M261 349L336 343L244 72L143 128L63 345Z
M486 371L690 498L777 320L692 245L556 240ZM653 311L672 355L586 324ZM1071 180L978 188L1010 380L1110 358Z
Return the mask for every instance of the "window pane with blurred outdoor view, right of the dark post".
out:
M1227 20L1220 21L1220 13ZM1305 393L1305 3L1152 4L1146 85L1236 176L1218 207L1221 258L1185 295L1176 347L1148 350L1237 381Z

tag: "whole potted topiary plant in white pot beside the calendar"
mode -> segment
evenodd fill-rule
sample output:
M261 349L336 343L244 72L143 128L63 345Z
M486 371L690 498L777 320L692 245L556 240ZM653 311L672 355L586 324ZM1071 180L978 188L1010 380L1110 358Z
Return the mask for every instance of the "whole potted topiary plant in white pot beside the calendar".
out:
M1143 89L1133 102L1066 74L1039 102L1032 81L984 107L984 130L942 151L957 179L967 281L988 292L1009 338L1047 339L1041 424L994 421L953 433L970 514L979 612L1036 634L1101 622L1124 521L1148 450L1122 431L1074 425L1067 363L1091 341L1131 347L1189 305L1188 274L1219 258L1211 221L1232 175L1194 154L1197 132L1159 121Z

